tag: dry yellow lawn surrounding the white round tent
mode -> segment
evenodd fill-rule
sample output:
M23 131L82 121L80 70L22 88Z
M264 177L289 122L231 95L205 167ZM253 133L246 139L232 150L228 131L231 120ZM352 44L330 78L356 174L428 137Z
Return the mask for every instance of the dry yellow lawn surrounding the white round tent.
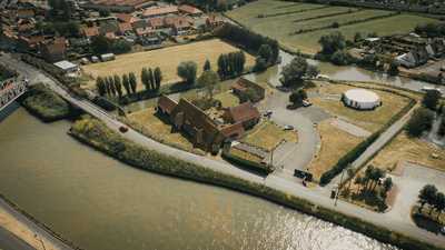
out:
M342 94L346 90L355 88L357 87L350 87L346 84L324 84L315 90L318 90L323 97L325 94ZM313 90L314 89L310 91ZM380 97L383 103L382 107L378 107L375 110L359 111L345 107L342 101L328 100L324 98L310 98L310 101L334 116L346 118L349 122L362 127L369 132L375 132L386 124L393 116L406 107L409 103L409 99L383 90L372 91Z

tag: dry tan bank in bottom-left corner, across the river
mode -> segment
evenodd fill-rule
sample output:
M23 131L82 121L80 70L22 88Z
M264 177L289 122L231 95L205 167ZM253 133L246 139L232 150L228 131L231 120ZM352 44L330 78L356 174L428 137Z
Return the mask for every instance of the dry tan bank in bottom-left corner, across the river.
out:
M34 249L80 250L2 194L0 194L0 224Z

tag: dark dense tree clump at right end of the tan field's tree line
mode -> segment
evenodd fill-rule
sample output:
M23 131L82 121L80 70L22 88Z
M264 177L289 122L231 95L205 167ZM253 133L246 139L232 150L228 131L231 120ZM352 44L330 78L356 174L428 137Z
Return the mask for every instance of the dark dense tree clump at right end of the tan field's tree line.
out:
M244 71L246 56L243 51L222 53L218 58L218 74L221 79L239 76Z

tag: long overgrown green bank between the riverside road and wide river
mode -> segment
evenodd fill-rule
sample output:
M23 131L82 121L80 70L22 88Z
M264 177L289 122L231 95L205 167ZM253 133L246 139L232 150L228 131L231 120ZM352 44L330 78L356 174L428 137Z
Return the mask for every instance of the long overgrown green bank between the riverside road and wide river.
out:
M382 242L398 246L405 250L444 249L386 228L377 227L359 218L345 216L337 211L316 206L308 200L269 188L261 182L221 173L204 166L146 149L142 146L123 139L120 134L96 119L83 118L77 121L72 126L70 133L79 141L136 168L246 192L315 216L325 221L349 228Z

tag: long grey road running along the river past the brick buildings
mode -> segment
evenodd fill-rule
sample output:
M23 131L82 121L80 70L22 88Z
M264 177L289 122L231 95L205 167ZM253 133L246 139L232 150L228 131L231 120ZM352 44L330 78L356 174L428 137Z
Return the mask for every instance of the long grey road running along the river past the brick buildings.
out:
M0 59L1 60L1 59ZM50 87L53 91L59 93L66 100L70 101L71 103L78 106L79 108L83 109L86 112L90 113L91 116L96 117L97 119L105 122L110 129L115 131L119 131L120 126L125 126L123 123L116 120L112 116L108 114L106 111L96 107L95 104L90 103L87 100L79 100L70 97L68 92L59 86L56 80L43 76L41 72L34 70L32 67L16 60L9 60L10 63L14 68L27 68L28 72L33 74L40 74L38 78L46 78L44 82L48 87ZM43 76L43 77L42 77ZM31 79L31 78L30 78ZM312 123L312 122L310 122ZM393 217L387 213L377 213L355 204L344 202L342 200L338 201L338 206L334 206L334 202L326 194L326 189L323 188L314 188L307 189L299 183L295 183L295 181L290 181L285 178L280 178L277 176L268 176L266 179L254 173L244 171L234 167L226 162L216 161L206 157L192 154L182 150L178 150L155 140L151 140L139 132L129 129L128 132L123 133L128 140L134 141L142 147L146 147L151 150L156 150L158 152L165 153L170 157L176 157L178 159L199 164L204 168L209 168L218 172L222 172L226 174L231 174L238 177L240 179L261 183L267 187L270 187L276 190L280 190L283 192L289 193L291 196L299 197L301 199L306 199L312 201L315 204L323 206L325 208L342 212L347 216L362 218L363 220L374 223L376 226L380 226L393 231L402 232L406 236L412 238L427 241L429 243L436 246L445 246L445 237L436 236L434 233L427 232L423 229L417 228L412 221L406 220L405 218Z

